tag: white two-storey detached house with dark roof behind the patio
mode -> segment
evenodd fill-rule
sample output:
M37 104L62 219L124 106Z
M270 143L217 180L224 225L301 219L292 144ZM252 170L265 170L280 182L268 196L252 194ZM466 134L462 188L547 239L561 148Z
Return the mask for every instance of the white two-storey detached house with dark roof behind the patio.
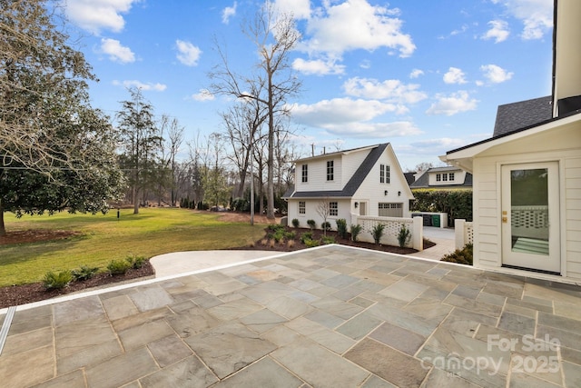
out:
M328 221L351 214L409 217L413 199L391 144L376 144L332 154L320 154L295 162L295 185L283 198L289 204L289 220L307 226L323 222L321 204L329 205Z

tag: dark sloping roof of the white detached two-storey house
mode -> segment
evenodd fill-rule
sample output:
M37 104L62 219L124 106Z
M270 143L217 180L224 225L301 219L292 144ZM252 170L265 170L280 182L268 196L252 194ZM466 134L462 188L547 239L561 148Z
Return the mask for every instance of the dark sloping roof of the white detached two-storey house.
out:
M357 171L351 176L349 182L347 184L345 184L345 186L343 187L342 190L330 190L330 191L320 190L320 191L312 191L312 192L309 192L309 191L307 191L307 192L295 192L292 195L287 196L287 198L322 198L322 197L351 197L351 196L353 196L353 194L355 194L357 189L359 189L359 186L363 183L363 181L365 180L365 178L369 174L369 171L371 171L371 168L373 168L373 166L378 161L379 156L381 156L381 154L383 154L385 149L388 147L388 144L389 143L373 145L372 147L355 148L354 150L371 148L371 152L369 152L369 154L365 157L365 160L363 160L363 162L361 164L359 164ZM342 151L341 153L347 153L347 152L351 152L354 150ZM339 154L339 153L334 153L334 154ZM327 154L327 155L329 155L329 154ZM308 158L308 159L310 159L310 158ZM300 160L303 161L305 159L300 159Z

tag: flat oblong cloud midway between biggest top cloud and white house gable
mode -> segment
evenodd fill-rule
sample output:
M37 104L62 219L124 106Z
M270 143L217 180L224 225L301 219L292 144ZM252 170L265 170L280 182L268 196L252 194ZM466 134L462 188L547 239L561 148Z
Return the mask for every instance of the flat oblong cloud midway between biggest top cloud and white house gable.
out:
M345 81L343 89L347 95L396 104L414 104L428 98L428 95L418 90L419 85L405 85L395 79L379 82L372 78L354 77Z

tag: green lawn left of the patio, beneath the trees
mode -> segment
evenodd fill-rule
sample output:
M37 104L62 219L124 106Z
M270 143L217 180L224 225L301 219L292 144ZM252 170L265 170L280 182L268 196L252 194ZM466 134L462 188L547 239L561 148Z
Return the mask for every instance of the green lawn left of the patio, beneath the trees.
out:
M263 224L224 223L220 214L185 209L133 209L109 214L5 214L6 231L57 229L82 235L53 242L0 245L0 286L42 280L47 271L92 265L105 270L111 260L138 255L151 258L179 251L239 247L264 235Z

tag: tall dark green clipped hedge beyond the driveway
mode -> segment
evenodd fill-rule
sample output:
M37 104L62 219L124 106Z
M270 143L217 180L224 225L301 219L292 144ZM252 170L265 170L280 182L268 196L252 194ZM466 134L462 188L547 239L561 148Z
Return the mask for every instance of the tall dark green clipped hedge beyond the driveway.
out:
M472 190L417 189L413 194L411 212L447 213L450 226L457 218L472 221Z

